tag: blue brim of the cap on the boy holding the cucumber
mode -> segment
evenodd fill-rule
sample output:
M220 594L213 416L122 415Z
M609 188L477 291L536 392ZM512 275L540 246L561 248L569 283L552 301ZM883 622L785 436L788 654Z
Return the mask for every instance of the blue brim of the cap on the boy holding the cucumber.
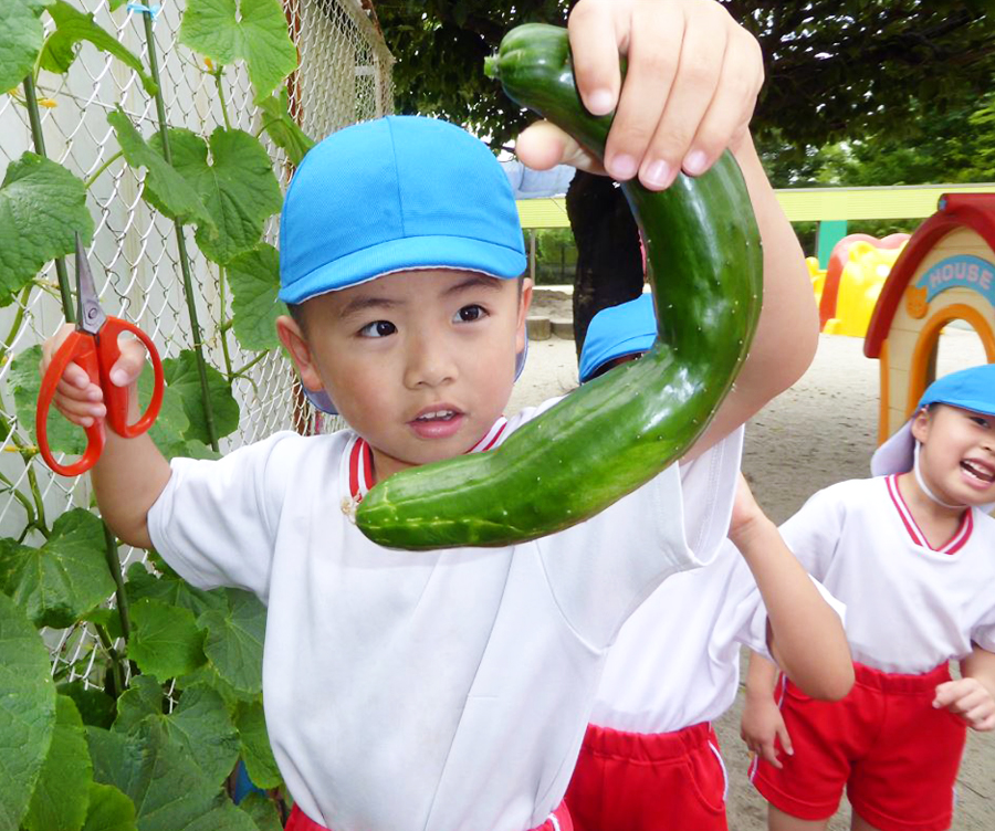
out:
M284 303L303 303L320 294L417 269L459 269L511 280L525 271L522 251L465 236L410 236L389 240L339 257L280 290Z

